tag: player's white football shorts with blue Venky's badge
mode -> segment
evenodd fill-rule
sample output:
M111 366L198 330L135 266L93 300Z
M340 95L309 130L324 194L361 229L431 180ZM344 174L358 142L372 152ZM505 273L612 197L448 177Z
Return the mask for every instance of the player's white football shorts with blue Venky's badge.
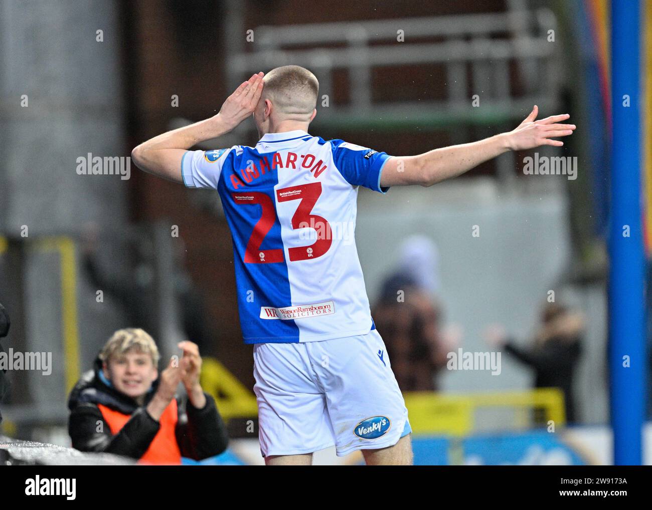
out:
M378 331L305 343L254 344L263 457L335 446L339 457L393 446L408 410Z

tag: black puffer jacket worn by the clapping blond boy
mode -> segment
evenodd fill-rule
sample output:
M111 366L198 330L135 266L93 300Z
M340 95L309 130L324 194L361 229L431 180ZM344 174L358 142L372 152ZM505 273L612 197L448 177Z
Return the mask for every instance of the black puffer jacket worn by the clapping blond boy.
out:
M70 393L68 434L72 438L72 447L80 451L114 453L140 459L160 428L158 421L149 416L146 410L158 388L158 379L153 383L143 406L139 406L131 397L104 384L98 375L101 369L102 361L98 358L93 370L85 373ZM228 445L226 427L215 400L207 393L204 395L206 405L202 409L193 406L187 398L183 401L177 399L177 444L183 457L194 460L218 455ZM113 435L97 404L132 416ZM97 426L98 422L102 422L102 427ZM98 429L102 432L98 432Z

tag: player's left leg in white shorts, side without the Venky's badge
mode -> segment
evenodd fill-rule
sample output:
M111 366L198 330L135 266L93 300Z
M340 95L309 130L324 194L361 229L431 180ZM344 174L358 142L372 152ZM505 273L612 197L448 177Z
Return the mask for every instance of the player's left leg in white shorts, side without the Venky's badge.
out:
M254 345L254 378L265 464L311 464L314 451L333 446L325 397L312 379L303 345Z

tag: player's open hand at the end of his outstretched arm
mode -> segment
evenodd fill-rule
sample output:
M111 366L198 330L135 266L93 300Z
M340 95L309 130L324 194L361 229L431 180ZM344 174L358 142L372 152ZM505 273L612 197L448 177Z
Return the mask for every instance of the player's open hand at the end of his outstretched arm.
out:
M541 145L561 147L564 145L563 141L552 140L552 138L571 135L575 129L575 124L558 124L558 122L567 120L570 117L568 113L535 120L537 115L539 115L539 107L535 105L518 128L506 134L511 150L534 149Z

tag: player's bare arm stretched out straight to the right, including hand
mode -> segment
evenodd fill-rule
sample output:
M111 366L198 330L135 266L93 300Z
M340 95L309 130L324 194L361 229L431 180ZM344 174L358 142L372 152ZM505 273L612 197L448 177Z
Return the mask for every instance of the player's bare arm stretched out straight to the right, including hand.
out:
M564 145L563 141L552 138L572 134L574 124L558 123L567 120L569 115L565 113L535 120L538 113L539 108L535 106L518 128L509 133L501 133L473 143L430 150L418 156L393 156L383 167L380 185L432 186L441 180L457 177L508 150L534 149L540 145Z

